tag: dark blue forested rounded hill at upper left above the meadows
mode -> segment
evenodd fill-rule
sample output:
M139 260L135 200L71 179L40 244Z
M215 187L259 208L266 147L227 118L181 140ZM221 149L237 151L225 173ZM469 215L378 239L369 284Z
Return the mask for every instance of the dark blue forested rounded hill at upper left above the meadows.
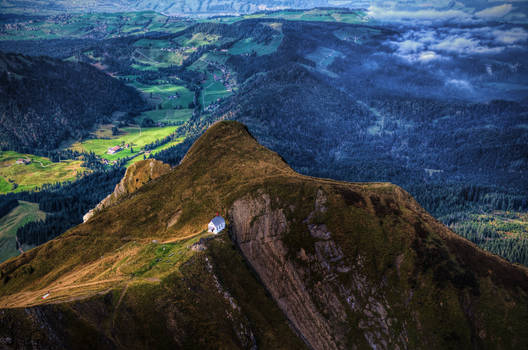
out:
M0 53L0 147L39 153L143 107L132 88L82 63Z

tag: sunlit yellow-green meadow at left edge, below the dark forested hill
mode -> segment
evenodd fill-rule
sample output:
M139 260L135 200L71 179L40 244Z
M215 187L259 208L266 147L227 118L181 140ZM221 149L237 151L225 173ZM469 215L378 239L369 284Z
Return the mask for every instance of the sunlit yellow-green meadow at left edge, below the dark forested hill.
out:
M16 164L19 158L31 159L30 164ZM49 158L13 151L0 152L0 193L12 192L12 180L18 187L14 192L32 190L43 184L74 180L77 173L88 169L81 166L80 160L64 160L53 163ZM8 186L9 185L9 186Z

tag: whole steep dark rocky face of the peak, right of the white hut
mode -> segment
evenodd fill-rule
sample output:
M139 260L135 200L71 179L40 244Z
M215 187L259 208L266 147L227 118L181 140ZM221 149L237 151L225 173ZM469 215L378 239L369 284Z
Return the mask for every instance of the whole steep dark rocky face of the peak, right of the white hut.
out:
M477 275L458 261L459 253L441 242L457 238L449 237L452 233L427 217L406 192L395 187L385 190L382 196L365 196L363 191L320 184L312 200L302 206L260 190L233 203L231 234L294 329L313 349L465 348L493 342L489 334L497 337L497 329L485 325L484 319L489 317L486 308L494 306L482 305L479 290L486 283L479 284ZM360 215L338 226L327 221L329 216L340 217L347 201ZM417 218L423 221L418 223ZM371 224L361 239L372 242L358 245L350 231L362 230L366 221ZM387 224L403 229L406 237L399 240L407 243L377 245L379 233L383 240L394 238L389 237ZM295 226L305 231L302 242L289 237L298 229ZM425 239L434 243L422 256L423 248L417 246L428 246ZM423 260L431 256L424 266ZM482 259L487 258L483 254ZM455 272L447 272L444 264ZM514 308L510 305L509 311L493 317L508 317ZM514 338L503 348L526 340L520 334Z

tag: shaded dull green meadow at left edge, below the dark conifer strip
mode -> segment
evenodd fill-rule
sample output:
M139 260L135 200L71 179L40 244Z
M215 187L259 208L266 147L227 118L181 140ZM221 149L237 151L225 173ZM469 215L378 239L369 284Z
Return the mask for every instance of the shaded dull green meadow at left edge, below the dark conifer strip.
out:
M18 207L0 218L0 262L17 256L16 231L28 222L44 220L46 213L39 210L37 203L19 201Z

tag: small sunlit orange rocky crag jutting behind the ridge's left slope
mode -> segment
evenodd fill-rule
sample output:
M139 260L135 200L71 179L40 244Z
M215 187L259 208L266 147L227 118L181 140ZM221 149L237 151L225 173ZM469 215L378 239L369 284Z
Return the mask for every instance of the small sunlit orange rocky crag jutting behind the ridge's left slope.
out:
M98 210L107 208L129 194L137 191L147 182L157 179L170 171L170 165L156 159L140 160L127 168L125 176L116 185L114 192L110 193L94 209L91 209L83 216L83 222L90 220Z

